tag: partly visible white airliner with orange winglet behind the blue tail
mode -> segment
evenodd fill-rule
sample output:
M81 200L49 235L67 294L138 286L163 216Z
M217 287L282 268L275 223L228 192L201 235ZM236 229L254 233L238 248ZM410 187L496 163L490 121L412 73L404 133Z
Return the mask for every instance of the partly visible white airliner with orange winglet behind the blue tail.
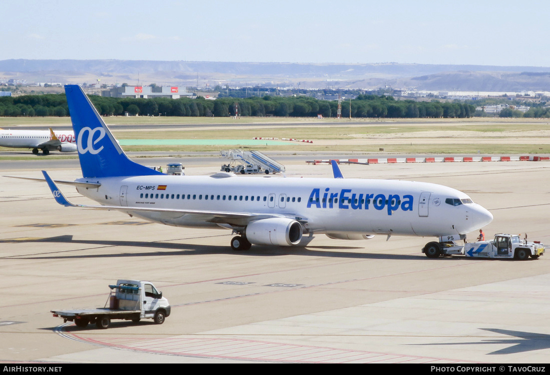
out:
M42 150L43 155L50 151L76 152L76 138L72 131L50 130L6 130L0 129L0 146L32 148L37 154Z

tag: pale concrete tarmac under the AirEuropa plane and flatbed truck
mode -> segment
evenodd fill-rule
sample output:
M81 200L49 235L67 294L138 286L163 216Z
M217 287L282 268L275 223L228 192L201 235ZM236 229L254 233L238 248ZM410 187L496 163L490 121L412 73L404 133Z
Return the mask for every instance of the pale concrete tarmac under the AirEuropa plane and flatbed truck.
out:
M285 163L287 175L332 177ZM212 158L186 174L218 172ZM2 175L41 178L32 161ZM54 179L78 166L50 168ZM550 244L549 162L342 165L346 178L452 186L493 213L484 228ZM239 178L248 178L242 176ZM76 203L92 203L72 187ZM332 240L234 252L225 230L168 227L65 208L46 184L0 177L0 362L547 363L550 254L427 258L432 238ZM476 233L468 238L474 241ZM151 280L172 305L158 326L78 328L50 310L100 307L119 278Z

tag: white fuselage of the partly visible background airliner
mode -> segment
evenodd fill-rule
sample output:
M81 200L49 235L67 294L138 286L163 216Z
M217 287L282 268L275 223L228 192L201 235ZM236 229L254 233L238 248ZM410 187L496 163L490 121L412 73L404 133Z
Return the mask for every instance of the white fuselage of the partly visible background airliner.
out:
M76 143L72 131L54 131L59 141L63 143ZM49 130L6 130L0 129L0 146L18 148L37 148L51 140ZM55 148L48 148L55 150Z

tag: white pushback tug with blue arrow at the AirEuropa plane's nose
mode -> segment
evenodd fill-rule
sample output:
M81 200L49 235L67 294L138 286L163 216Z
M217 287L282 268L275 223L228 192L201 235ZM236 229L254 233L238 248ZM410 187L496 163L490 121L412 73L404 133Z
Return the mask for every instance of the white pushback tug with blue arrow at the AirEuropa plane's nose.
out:
M439 238L439 242L428 242L422 252L428 258L437 258L440 255L465 255L472 258L513 258L526 260L531 257L537 259L544 254L546 247L540 242L527 242L527 238L520 239L518 234L497 234L491 241L470 242L459 245L452 236Z

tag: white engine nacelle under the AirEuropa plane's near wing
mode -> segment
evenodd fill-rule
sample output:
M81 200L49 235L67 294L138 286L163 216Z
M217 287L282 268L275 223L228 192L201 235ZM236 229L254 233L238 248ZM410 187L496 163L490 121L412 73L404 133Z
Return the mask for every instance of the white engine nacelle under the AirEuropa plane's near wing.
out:
M246 239L255 245L294 246L302 239L302 226L287 218L260 219L246 227Z

